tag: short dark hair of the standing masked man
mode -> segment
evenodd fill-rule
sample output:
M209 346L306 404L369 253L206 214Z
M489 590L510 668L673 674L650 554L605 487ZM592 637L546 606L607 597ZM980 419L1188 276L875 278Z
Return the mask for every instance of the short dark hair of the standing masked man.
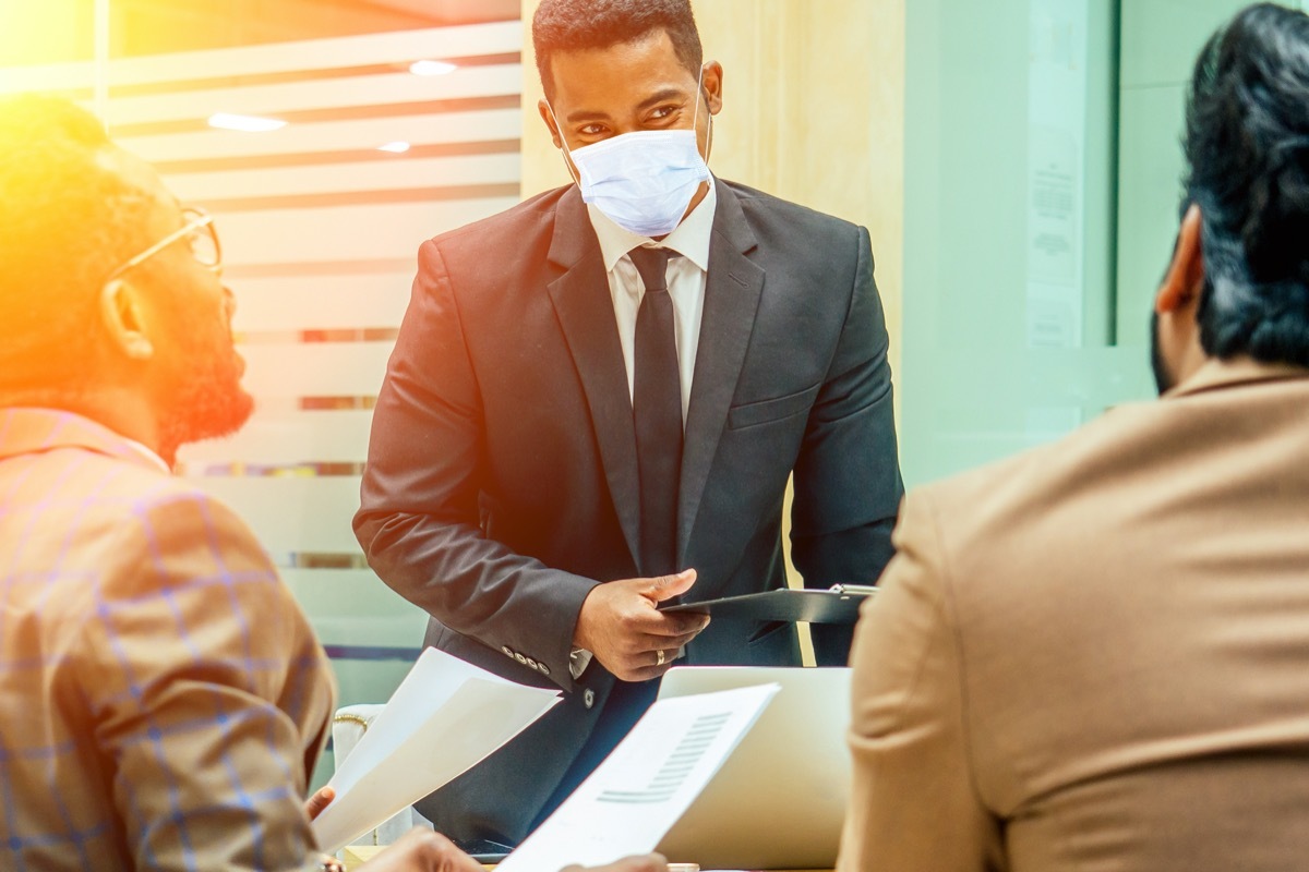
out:
M699 77L704 50L690 0L541 0L531 18L531 46L546 99L555 92L550 72L555 52L609 48L653 30L668 33L677 59Z

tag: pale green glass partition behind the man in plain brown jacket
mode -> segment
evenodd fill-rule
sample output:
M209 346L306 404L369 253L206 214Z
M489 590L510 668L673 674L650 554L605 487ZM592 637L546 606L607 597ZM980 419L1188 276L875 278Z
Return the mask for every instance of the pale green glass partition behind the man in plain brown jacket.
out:
M1183 86L1240 0L906 3L910 485L1153 396Z

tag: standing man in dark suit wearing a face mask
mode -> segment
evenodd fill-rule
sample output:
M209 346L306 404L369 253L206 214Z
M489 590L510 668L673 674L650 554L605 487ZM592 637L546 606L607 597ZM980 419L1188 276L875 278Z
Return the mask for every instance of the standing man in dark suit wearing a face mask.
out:
M545 0L533 43L577 184L421 246L355 519L429 645L568 692L420 805L507 843L675 659L798 665L793 626L656 611L785 583L792 472L812 587L877 578L902 493L868 234L709 174L723 68L687 0Z

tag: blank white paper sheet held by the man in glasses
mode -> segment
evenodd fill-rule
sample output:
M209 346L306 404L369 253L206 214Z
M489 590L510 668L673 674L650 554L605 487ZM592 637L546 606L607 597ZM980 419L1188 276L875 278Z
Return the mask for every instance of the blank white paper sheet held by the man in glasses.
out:
M484 760L552 709L529 688L427 648L329 786L314 835L332 852Z

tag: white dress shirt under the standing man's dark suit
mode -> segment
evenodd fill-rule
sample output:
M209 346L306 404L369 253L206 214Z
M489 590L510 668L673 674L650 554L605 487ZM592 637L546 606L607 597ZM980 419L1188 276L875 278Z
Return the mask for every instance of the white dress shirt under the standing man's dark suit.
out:
M592 204L586 204L590 226L600 239L600 252L605 259L605 272L609 276L609 295L614 301L614 322L618 324L618 341L623 346L623 365L627 367L627 397L632 396L632 360L636 345L636 312L645 297L645 284L636 272L636 264L627 252L637 246L649 248L672 248L682 255L669 258L668 295L673 299L673 339L677 343L677 369L682 382L682 426L686 426L686 411L691 407L691 378L695 375L695 352L700 346L700 318L704 315L704 280L709 269L709 235L713 233L713 213L719 205L719 195L709 176L709 190L691 214L673 229L673 233L654 242L624 230ZM675 656L682 656L678 651ZM580 679L590 665L592 652L573 648L568 671L573 679Z

